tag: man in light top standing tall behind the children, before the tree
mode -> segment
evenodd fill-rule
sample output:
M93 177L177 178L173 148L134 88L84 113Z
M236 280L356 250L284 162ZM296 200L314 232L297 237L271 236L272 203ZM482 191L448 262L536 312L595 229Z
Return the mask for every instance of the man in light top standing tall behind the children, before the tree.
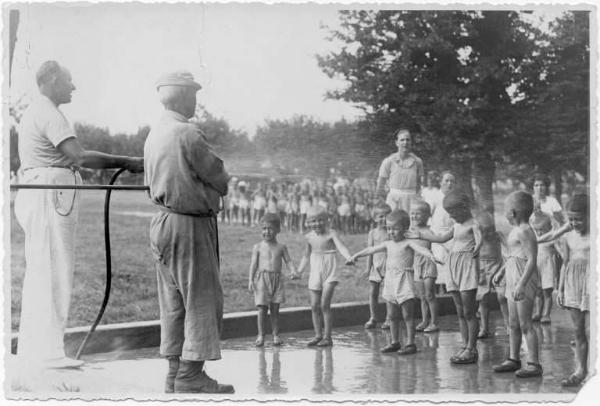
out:
M377 179L377 194L383 198L385 185L389 192L385 202L392 210L410 210L412 200L419 197L423 179L423 161L411 152L412 139L410 132L401 128L396 132L398 152L383 160Z

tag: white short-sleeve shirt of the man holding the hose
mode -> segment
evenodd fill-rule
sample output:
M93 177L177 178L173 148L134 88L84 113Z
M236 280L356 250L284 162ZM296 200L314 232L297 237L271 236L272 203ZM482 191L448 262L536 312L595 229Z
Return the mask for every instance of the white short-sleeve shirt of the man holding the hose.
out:
M21 169L73 165L57 147L74 138L75 132L64 114L46 96L40 95L29 105L18 131Z

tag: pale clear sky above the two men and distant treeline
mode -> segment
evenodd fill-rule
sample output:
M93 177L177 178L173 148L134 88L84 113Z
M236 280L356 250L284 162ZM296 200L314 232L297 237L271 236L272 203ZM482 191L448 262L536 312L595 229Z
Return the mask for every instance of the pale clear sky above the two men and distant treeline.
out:
M339 7L339 6L337 6ZM252 136L265 119L296 114L333 122L361 111L327 100L344 86L315 55L337 49L322 24L336 6L265 4L21 4L11 100L37 94L35 72L54 59L77 87L61 106L71 122L132 133L160 114L155 80L186 69L208 112ZM546 10L550 15L553 10Z

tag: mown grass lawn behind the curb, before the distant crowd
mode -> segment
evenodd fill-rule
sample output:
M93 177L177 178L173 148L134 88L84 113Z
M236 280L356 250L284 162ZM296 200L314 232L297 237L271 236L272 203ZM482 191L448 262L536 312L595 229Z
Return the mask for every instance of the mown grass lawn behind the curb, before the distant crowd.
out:
M69 326L89 325L102 302L105 286L103 206L104 192L81 191L77 234L75 282ZM113 282L103 323L158 319L156 275L148 242L148 228L154 207L144 192L113 192L111 198L111 248ZM25 271L24 234L11 208L11 326L18 329L21 288ZM254 309L254 298L247 291L248 267L252 245L260 241L258 228L220 225L221 281L225 311ZM278 237L288 246L296 265L302 253L303 238L283 232ZM351 252L363 248L365 235L343 236ZM339 258L342 266L342 258ZM362 276L365 262L358 268L344 267L334 302L366 300L368 282ZM309 304L308 272L299 281L286 281L283 306Z

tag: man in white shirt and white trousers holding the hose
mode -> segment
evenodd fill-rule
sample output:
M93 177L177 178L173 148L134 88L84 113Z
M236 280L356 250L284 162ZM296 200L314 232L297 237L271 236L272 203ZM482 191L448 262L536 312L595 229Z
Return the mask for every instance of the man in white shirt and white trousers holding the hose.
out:
M58 109L71 102L71 74L56 61L36 74L40 95L28 106L19 126L22 183L80 184L78 167L143 170L143 159L84 149ZM25 279L21 299L18 355L24 365L73 368L81 360L65 356L79 215L76 190L22 189L15 215L25 232Z

